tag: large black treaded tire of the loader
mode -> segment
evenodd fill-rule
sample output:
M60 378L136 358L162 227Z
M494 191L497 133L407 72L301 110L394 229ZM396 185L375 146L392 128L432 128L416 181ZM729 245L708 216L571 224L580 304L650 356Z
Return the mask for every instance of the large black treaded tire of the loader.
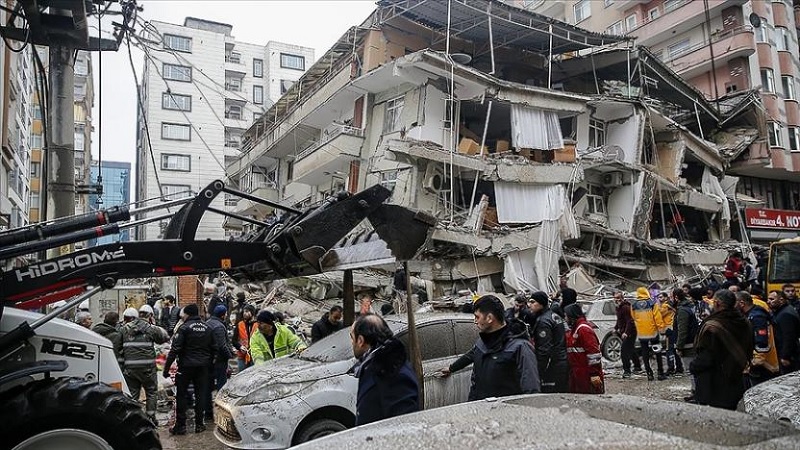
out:
M0 405L4 448L161 450L142 407L96 381L33 381L0 394Z

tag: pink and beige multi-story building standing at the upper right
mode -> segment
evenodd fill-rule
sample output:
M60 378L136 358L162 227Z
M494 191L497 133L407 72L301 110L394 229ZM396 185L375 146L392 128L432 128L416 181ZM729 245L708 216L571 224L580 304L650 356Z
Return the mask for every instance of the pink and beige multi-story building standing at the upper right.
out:
M761 138L732 161L740 194L766 208L800 209L800 106L796 2L763 0L510 1L597 32L624 34L709 100L755 90ZM713 104L714 102L712 102ZM719 108L720 104L715 107ZM765 212L772 214L771 212ZM786 233L788 231L788 234ZM800 230L749 230L757 241Z

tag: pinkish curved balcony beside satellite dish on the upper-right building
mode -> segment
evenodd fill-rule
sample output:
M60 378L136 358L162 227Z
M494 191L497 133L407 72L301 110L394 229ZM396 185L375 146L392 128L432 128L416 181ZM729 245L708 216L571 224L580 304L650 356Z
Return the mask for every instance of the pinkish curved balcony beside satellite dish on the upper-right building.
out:
M753 28L749 25L725 30L711 36L711 47L703 42L672 55L668 64L682 78L689 80L711 70L711 50L717 67L735 58L755 53Z

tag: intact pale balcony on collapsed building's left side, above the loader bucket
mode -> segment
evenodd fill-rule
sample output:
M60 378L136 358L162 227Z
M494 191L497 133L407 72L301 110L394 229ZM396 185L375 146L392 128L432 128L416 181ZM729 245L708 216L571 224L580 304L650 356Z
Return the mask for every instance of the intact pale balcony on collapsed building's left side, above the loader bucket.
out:
M297 155L293 180L317 186L332 175L346 178L350 163L359 158L363 144L364 130L346 125L331 129L326 138Z

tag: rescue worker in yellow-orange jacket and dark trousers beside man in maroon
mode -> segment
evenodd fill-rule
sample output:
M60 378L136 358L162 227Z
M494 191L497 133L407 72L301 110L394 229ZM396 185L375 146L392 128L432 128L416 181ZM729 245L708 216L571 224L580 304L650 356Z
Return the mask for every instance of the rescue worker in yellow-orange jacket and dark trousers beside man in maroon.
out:
M650 355L655 354L656 367L658 368L658 379L664 380L664 361L661 359L661 344L659 334L664 328L661 320L661 311L654 300L650 298L650 292L646 287L636 289L636 301L631 304L633 321L636 324L636 335L639 338L639 346L644 362L644 370L647 372L648 381L653 381L653 369L650 367ZM657 350L657 351L655 351Z

